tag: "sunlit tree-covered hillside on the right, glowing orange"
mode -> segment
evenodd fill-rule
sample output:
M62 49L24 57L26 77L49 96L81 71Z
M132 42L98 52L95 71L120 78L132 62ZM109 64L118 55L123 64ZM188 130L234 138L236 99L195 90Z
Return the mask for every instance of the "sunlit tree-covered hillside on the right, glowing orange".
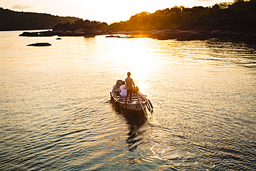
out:
M256 0L235 0L216 3L211 7L185 8L174 6L154 13L140 12L128 21L109 25L111 30L149 31L181 30L235 30L256 32Z

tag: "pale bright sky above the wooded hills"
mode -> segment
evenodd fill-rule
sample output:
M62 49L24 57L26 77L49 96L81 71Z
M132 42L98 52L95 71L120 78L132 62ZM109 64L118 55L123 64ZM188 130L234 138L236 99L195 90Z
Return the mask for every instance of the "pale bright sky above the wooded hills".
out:
M61 17L113 22L127 21L138 12L150 13L174 6L213 6L233 0L0 0L0 7L15 11L39 12Z

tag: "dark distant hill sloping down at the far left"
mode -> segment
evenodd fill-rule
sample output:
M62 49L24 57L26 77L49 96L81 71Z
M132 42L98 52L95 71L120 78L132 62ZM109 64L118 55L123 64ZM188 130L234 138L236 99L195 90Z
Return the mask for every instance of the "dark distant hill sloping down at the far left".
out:
M57 24L74 23L77 20L82 19L35 12L16 12L0 8L0 30L52 29Z

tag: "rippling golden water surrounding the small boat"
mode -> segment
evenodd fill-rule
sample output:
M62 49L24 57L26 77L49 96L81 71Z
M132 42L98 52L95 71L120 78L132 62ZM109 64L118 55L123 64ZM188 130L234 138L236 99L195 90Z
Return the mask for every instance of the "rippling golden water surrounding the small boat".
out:
M0 170L256 170L255 46L20 33L0 32ZM149 120L110 102L127 71Z

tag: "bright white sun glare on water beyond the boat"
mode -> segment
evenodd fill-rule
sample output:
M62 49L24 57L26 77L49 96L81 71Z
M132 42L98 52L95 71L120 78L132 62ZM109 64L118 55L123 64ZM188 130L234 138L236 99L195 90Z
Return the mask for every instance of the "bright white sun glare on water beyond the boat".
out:
M118 39L120 41L116 46L116 52L113 54L113 60L118 62L124 74L131 72L131 78L134 79L136 86L141 92L145 92L148 87L148 75L154 69L154 57L152 49L149 48L149 39L147 38L130 38ZM123 54L122 56L119 56ZM118 55L118 56L116 56Z

